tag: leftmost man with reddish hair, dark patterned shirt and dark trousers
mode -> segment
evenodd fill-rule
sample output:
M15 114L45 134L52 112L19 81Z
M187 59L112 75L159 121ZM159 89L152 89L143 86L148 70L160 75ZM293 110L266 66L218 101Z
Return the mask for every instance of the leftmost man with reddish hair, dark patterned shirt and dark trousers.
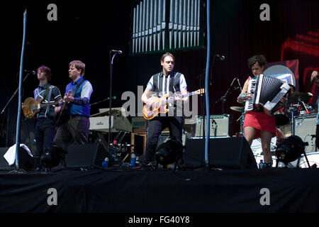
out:
M42 103L62 100L60 90L49 84L51 79L51 70L49 67L42 65L37 70L39 86L33 91L34 99L45 99ZM45 95L46 94L46 95ZM40 169L40 155L43 150L52 145L55 138L55 107L52 105L40 109L35 118L35 170Z

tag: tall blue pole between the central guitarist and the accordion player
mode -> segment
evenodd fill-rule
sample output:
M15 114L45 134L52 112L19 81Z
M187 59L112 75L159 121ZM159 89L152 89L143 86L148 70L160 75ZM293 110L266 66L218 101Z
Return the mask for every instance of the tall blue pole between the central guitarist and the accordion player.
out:
M205 164L208 167L208 151L209 151L209 89L208 89L208 72L209 72L209 62L210 62L210 55L211 55L211 29L210 29L210 0L206 1L206 21L207 21L207 53L206 53L206 77L205 77L205 95L206 95L206 138L205 138ZM204 121L204 120L203 120Z

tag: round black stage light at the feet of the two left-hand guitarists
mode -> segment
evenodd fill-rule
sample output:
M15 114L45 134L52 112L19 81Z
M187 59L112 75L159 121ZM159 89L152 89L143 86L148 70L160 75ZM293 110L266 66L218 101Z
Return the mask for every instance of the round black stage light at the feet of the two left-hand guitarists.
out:
M52 145L50 148L45 149L43 155L40 157L41 165L47 169L51 169L60 164L64 154L67 153L65 150L57 145Z

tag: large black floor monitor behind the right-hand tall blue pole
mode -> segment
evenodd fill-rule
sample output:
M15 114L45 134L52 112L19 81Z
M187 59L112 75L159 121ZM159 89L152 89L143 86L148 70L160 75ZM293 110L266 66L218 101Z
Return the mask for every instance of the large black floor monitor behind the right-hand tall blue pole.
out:
M257 169L257 163L245 138L210 138L208 165L223 170ZM204 167L205 140L186 140L183 155L185 167Z

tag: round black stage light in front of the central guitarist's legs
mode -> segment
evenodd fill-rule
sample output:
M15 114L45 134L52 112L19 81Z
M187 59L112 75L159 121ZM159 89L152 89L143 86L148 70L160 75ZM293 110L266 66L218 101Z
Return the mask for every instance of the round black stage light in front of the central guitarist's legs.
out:
M183 149L183 145L177 140L168 140L158 146L155 151L155 160L163 166L172 164L181 158Z

